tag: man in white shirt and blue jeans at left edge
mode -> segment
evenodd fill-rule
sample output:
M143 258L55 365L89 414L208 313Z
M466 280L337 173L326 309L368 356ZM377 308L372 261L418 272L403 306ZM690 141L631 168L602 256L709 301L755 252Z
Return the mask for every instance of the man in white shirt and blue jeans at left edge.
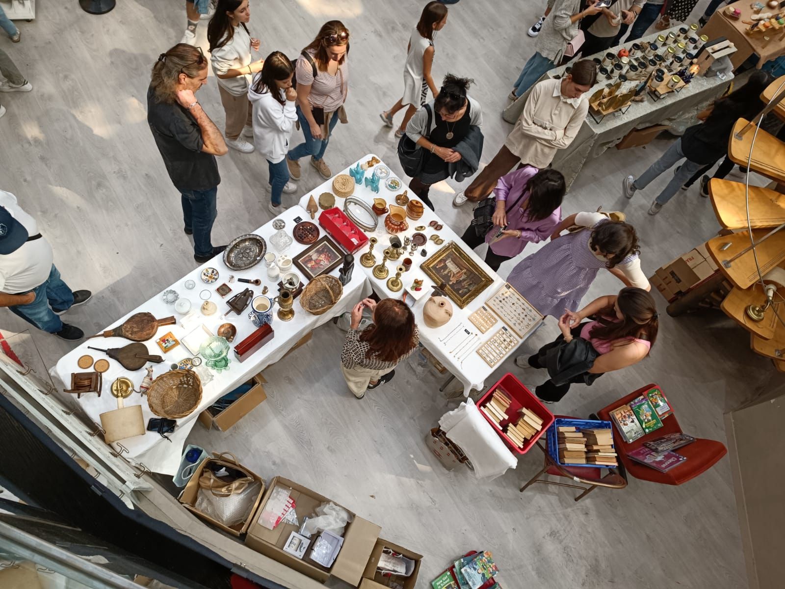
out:
M52 246L38 232L38 223L0 190L0 306L59 338L84 337L79 327L59 315L89 301L90 291L71 292L52 263Z

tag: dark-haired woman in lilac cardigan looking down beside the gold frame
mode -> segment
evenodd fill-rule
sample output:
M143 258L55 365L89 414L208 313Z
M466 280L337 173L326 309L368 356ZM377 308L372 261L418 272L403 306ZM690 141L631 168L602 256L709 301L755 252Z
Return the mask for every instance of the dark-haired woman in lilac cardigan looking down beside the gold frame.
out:
M502 262L515 258L526 244L548 239L561 221L564 176L550 168L523 166L499 178L494 194L494 225L478 235L478 225L469 225L462 240L472 249L488 244L485 263L495 272Z

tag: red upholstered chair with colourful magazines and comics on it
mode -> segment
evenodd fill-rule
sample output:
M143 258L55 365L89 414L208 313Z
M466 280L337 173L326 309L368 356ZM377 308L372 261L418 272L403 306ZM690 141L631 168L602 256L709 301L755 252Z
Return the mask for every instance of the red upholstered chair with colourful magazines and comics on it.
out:
M655 386L658 385L649 384L642 386L634 393L630 393L626 397L619 399L619 401L614 401L607 407L600 409L600 411L597 412L597 416L600 419L612 422L611 412L615 408L630 403L635 397L640 397ZM651 434L639 437L636 441L630 442L630 444L627 444L624 441L621 434L619 434L619 430L616 428L616 424L613 424L613 442L616 452L619 454L619 460L627 473L633 475L635 478L640 478L643 481L652 481L654 483L662 483L663 485L681 485L690 479L697 477L706 470L709 470L719 459L728 453L725 444L715 440L697 437L696 441L692 442L692 444L687 444L674 451L677 452L677 454L685 456L687 459L685 462L678 466L674 466L666 473L661 473L659 470L637 463L633 459L627 457L627 452L632 452L634 449L640 448L644 441L654 440L665 434L675 433L681 433L681 426L679 426L675 412L663 419L662 427L654 430ZM689 432L687 433L689 434Z

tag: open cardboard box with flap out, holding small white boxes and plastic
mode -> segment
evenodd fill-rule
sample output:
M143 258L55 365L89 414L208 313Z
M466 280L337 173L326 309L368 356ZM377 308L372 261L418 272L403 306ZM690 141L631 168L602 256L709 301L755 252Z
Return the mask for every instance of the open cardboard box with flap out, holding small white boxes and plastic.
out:
M301 560L283 550L291 532L297 531L298 526L282 521L276 529L271 530L258 522L259 515L276 485L291 488L291 497L296 503L294 510L301 523L303 518L313 514L316 507L331 501L331 499L327 499L327 497L319 495L319 493L298 485L287 478L273 478L265 496L259 503L254 517L251 518L245 540L246 546L322 583L327 581L330 575L332 575L352 585L352 587L357 587L360 584L360 578L363 576L363 570L367 565L368 559L371 558L371 551L374 550L374 544L378 540L379 532L382 531L381 526L360 518L352 514L350 510L347 510L354 517L346 525L343 536L344 543L332 567L326 569L314 562ZM340 505L335 501L333 503ZM344 507L344 509L346 508Z

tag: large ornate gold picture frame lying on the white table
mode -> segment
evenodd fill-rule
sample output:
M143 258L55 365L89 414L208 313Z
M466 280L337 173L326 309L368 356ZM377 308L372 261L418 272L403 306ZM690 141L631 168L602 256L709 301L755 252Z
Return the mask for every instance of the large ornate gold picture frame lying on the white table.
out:
M461 309L493 284L491 276L454 241L447 243L420 267L437 287L445 285L445 294Z

